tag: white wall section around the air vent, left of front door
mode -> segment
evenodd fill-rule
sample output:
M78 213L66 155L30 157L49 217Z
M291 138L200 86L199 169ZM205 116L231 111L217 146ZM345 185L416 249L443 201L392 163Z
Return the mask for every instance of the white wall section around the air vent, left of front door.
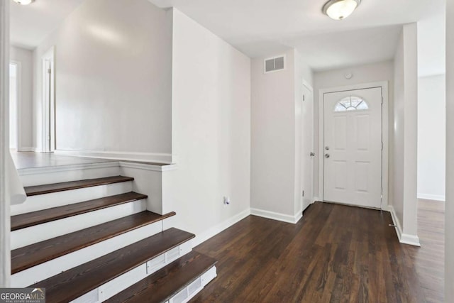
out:
M284 55L285 70L277 72L264 73L265 58L252 62L250 207L253 214L294 222L302 213L302 79L311 84L312 72L296 50Z

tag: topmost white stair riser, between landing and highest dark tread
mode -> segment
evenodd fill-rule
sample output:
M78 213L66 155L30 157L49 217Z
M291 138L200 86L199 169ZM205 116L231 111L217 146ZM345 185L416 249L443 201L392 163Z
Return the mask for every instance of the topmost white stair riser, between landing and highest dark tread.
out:
M24 187L114 177L120 175L118 162L79 164L18 170Z

